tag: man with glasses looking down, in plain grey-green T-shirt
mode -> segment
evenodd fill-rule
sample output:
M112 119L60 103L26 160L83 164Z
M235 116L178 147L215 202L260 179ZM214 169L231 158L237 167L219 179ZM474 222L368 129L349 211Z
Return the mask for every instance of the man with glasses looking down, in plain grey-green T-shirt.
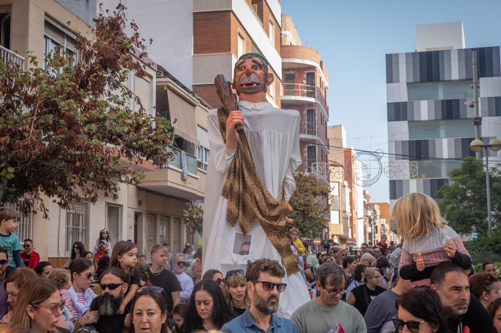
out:
M362 314L341 301L346 293L345 278L343 268L337 263L320 265L317 269L320 296L298 307L291 317L300 333L338 331L340 327L347 333L367 333Z

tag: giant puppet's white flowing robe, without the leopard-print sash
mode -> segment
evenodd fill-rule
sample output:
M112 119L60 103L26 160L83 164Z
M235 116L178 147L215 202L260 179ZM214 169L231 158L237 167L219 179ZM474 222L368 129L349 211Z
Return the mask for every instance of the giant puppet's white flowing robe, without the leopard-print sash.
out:
M238 107L244 115L245 136L261 180L277 198L285 179L284 194L285 199L289 200L296 189L293 172L301 164L299 112L276 108L269 102L239 101ZM209 111L207 127L210 156L203 213L203 271L215 268L225 276L228 270L245 270L247 260L260 258L279 260L283 265L280 254L258 219L254 220L246 237L243 237L238 222L234 227L227 222L228 200L221 196L221 190L235 149L227 149L222 140L217 109ZM249 254L240 255L241 243L248 240ZM280 295L277 314L290 318L296 308L311 298L300 272L292 275L286 273L283 282L287 283L287 287Z

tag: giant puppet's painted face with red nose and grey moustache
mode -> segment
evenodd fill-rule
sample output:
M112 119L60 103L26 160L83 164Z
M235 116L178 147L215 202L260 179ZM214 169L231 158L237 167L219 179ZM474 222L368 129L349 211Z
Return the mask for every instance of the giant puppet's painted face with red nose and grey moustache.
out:
M235 75L233 77L233 87L236 94L252 94L260 91L267 91L268 84L273 82L273 74L268 74L266 62L259 56L249 59L240 59L235 64ZM271 77L270 77L271 76Z

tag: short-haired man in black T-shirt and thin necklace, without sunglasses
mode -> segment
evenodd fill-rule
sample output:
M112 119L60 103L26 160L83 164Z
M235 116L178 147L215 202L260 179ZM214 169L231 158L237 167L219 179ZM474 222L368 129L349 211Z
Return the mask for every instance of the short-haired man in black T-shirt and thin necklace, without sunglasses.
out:
M168 261L167 248L163 245L155 244L151 247L150 253L151 266L146 270L146 272L148 273L151 284L163 288L167 311L170 312L172 311L172 308L181 300L181 284L176 278L176 275L165 268Z

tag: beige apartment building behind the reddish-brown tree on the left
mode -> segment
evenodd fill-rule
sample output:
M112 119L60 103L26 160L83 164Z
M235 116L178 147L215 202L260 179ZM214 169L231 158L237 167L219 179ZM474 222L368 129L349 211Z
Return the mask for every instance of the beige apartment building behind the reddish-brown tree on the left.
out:
M93 25L96 13L94 0L0 0L0 55L27 70L29 51L41 59L48 50L62 45L78 61L75 39L79 32L90 37L88 26ZM68 21L70 25L66 24ZM44 219L41 212L21 214L16 233L21 240L33 239L42 259L54 266L66 262L75 241L82 241L92 249L103 228L109 230L112 245L121 239L131 239L138 244L139 252L145 254L157 242L170 242L171 251L176 252L182 250L186 241L195 244L198 241L197 234L186 226L183 209L187 201L204 196L204 172L210 149L203 130L208 104L152 59L143 60L149 63L146 76L135 77L131 72L124 84L141 98L151 114L160 111L178 120L174 124L174 146L168 148L175 150L174 159L162 168L155 168L146 160L139 165L123 160L144 171L143 184L119 183L113 196L101 193L95 204L75 202L67 210L42 196L49 219ZM132 100L129 106L137 109ZM15 204L10 206L16 208Z

